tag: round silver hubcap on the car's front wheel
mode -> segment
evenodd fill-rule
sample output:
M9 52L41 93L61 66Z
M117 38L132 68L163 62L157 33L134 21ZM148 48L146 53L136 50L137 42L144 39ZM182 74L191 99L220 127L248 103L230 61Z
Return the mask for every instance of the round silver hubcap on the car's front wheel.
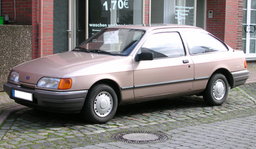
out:
M112 107L113 107L113 99L111 95L106 91L102 91L94 99L93 109L95 113L100 117L108 116L108 114L112 110Z

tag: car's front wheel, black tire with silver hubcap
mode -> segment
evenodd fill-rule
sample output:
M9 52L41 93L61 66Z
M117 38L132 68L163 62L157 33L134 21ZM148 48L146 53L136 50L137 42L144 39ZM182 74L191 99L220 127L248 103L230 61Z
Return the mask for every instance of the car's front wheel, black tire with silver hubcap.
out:
M89 90L81 113L88 122L106 123L115 115L117 102L113 88L98 84Z

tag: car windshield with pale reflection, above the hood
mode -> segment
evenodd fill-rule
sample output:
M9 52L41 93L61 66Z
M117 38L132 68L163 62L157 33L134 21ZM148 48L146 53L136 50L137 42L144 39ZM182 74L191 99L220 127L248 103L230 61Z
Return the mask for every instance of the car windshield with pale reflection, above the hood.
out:
M127 55L145 31L137 29L104 29L79 45L79 50L112 55ZM76 49L76 51L77 51Z

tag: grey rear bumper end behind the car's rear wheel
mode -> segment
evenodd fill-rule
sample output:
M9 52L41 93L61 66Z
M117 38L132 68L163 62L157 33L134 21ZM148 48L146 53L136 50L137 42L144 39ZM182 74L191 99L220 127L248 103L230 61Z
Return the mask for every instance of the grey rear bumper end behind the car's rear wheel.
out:
M234 81L231 88L236 88L236 86L244 84L246 82L246 80L249 78L248 70L232 72L231 74L233 76L233 81Z

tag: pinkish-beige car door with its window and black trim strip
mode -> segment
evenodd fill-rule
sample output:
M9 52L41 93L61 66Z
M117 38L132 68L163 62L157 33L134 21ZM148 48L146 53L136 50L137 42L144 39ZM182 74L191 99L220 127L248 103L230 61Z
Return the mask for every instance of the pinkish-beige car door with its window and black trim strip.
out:
M134 60L135 98L168 95L192 89L193 61L186 56L178 32L154 33L148 36L138 54L141 52L152 52L154 59Z

